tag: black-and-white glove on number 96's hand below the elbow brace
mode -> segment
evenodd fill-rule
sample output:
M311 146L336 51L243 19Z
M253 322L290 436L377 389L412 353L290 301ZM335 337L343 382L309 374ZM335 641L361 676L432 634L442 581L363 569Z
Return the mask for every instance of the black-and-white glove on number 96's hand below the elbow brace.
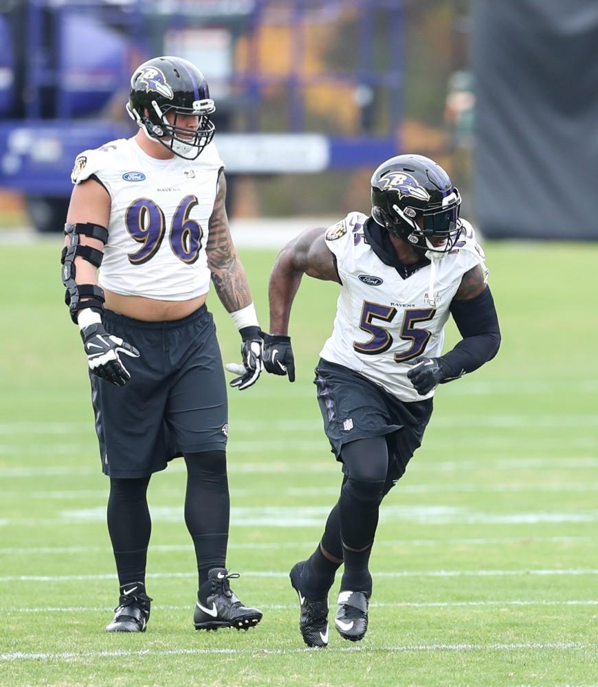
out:
M131 378L129 371L120 361L120 354L138 358L140 353L137 348L120 337L107 333L101 323L84 327L81 330L81 338L87 353L89 369L93 374L117 386L122 386Z

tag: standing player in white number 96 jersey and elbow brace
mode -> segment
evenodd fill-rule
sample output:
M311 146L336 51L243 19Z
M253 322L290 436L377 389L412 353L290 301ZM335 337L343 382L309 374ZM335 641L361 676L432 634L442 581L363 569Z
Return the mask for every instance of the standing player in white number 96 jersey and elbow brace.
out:
M228 407L206 307L210 279L242 339L244 390L263 369L263 341L225 211L214 112L197 67L159 57L135 69L126 110L139 126L76 158L63 282L89 362L108 529L120 584L109 632L150 616L146 554L153 473L184 456L185 521L195 545L197 629L254 627L262 617L230 589ZM100 267L101 264L101 267ZM96 269L100 268L96 280Z

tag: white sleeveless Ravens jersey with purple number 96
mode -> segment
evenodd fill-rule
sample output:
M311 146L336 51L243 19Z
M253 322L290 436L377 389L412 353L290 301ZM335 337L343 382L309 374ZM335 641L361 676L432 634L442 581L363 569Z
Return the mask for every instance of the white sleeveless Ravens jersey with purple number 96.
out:
M81 153L71 180L93 176L111 199L100 286L156 300L207 293L208 220L223 167L213 143L195 160L156 159L134 138Z

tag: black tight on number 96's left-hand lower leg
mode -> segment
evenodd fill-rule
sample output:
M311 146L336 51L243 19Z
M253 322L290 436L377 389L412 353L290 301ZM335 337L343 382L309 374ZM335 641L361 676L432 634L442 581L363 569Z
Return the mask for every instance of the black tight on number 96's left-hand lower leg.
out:
M151 518L147 505L149 477L120 480L110 478L108 532L112 542L118 583L145 584Z

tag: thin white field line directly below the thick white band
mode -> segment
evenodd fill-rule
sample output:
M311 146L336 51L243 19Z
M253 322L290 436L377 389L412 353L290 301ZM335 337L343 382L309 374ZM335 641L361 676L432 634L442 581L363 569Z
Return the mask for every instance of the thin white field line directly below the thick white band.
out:
M535 544L535 543L585 543L595 541L592 537L487 537L478 539L376 539L380 546L478 546L486 544ZM312 541L262 541L255 543L230 543L230 549L296 549L313 545ZM152 551L187 551L186 544L153 544ZM34 546L3 547L0 554L80 554L91 552L109 553L111 549L103 546Z

